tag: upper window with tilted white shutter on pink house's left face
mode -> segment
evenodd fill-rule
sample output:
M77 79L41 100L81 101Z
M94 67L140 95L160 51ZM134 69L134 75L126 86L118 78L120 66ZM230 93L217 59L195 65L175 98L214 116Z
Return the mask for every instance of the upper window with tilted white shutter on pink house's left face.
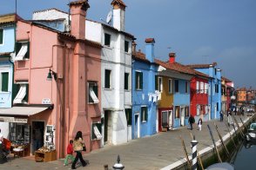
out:
M24 60L24 58L30 58L30 42L17 42L16 43L15 61Z

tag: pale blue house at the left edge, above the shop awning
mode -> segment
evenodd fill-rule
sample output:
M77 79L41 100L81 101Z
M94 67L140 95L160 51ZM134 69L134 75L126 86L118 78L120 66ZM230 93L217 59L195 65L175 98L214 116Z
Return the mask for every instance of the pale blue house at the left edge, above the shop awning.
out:
M0 109L11 108L13 62L10 56L15 51L16 15L0 16Z

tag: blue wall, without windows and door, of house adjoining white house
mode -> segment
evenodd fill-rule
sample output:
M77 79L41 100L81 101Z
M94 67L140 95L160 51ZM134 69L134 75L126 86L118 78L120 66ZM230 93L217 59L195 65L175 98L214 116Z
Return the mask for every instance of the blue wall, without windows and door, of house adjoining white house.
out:
M135 73L143 73L143 89L136 90ZM156 134L156 102L149 101L149 93L155 92L156 66L149 62L133 60L132 63L132 127L131 138L135 138L135 114L140 115L140 137ZM148 108L148 117L146 122L141 121L141 107Z

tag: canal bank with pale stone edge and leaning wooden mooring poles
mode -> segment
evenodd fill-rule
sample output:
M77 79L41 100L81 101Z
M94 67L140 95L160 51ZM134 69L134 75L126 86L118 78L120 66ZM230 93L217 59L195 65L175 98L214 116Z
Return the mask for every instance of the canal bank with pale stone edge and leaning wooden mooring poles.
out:
M199 156L198 156L198 169L202 169L201 165L206 168L211 166L214 163L219 162L229 162L232 159L233 154L237 153L237 150L239 150L239 147L244 141L244 134L246 134L246 127L248 127L251 122L255 121L256 114L253 114L253 116L247 117L245 119L242 119L242 116L234 116L233 117L233 125L226 126L226 132L225 135L220 135L222 138L222 141L219 137L215 138L215 146L212 145L209 147L205 147L204 149L198 149ZM227 125L227 122L225 122ZM215 126L214 127L218 127ZM216 128L212 129L216 130ZM219 127L218 127L219 129ZM219 131L219 130L218 130ZM210 132L209 132L210 133ZM218 133L218 132L217 132ZM212 136L214 139L214 136ZM199 142L199 141L198 141ZM200 145L200 142L199 144ZM217 150L215 149L217 148ZM190 149L190 148L188 148ZM192 155L188 156L190 160L190 165L188 161L184 158L183 160L179 160L174 162L173 164L161 168L161 170L169 170L169 169L190 169L189 166L192 166ZM199 161L200 159L200 161ZM200 165L201 164L201 165Z

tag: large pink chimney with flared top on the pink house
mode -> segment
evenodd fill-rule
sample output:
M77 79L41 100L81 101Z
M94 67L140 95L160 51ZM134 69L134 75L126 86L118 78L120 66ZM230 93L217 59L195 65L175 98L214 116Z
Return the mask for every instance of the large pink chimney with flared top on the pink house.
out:
M71 35L77 39L85 38L86 10L90 8L88 0L74 1L70 3L71 9Z

